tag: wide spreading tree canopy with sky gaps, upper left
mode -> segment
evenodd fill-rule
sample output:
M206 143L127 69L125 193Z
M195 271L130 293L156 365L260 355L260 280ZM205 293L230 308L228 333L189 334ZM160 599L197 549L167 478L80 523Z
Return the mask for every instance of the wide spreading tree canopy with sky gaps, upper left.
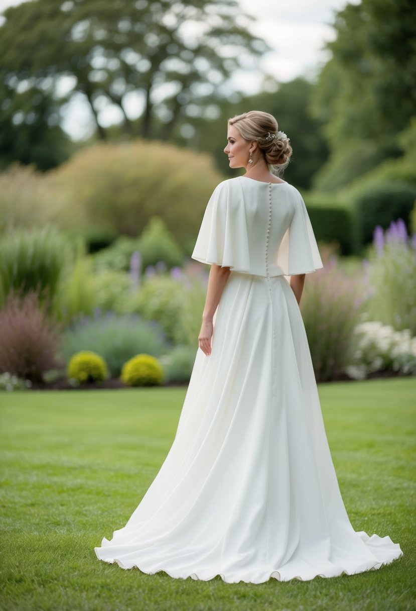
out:
M35 0L4 12L0 73L15 92L30 87L59 97L63 77L100 112L117 108L123 131L168 139L176 124L203 115L229 75L267 50L246 30L235 0ZM135 96L142 111L127 111ZM157 131L159 128L159 131Z

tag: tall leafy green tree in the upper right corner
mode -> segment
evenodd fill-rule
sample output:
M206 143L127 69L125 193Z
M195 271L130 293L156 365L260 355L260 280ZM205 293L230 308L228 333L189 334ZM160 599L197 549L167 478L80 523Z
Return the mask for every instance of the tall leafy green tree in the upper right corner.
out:
M314 96L332 150L318 180L326 188L399 155L396 134L416 114L416 4L362 0L337 13L334 27Z

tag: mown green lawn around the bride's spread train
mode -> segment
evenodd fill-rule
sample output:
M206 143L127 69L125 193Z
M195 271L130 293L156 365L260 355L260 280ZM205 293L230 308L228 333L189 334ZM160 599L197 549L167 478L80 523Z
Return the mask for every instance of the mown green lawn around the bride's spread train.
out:
M224 584L123 571L93 547L143 497L173 442L185 388L0 393L2 610L415 609L416 379L318 386L356 530L404 556L310 582Z

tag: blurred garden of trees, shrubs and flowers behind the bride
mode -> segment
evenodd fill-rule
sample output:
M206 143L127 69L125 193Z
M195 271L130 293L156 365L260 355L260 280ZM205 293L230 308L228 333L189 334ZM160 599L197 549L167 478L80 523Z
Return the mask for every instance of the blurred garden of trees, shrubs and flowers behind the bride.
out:
M262 68L270 45L241 2L14 4L0 25L2 389L187 384L209 272L190 255L235 175L227 119L249 109L290 137L285 180L324 261L301 300L317 381L416 374L414 3L344 3L325 60L286 81Z

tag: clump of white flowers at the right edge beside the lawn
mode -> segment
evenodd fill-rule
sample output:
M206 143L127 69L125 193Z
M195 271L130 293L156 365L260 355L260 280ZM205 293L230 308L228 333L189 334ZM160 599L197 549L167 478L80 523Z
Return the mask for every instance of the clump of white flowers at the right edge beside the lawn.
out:
M416 375L416 337L409 329L395 331L378 321L359 323L354 329L357 348L346 373L363 379L374 371L399 371Z

